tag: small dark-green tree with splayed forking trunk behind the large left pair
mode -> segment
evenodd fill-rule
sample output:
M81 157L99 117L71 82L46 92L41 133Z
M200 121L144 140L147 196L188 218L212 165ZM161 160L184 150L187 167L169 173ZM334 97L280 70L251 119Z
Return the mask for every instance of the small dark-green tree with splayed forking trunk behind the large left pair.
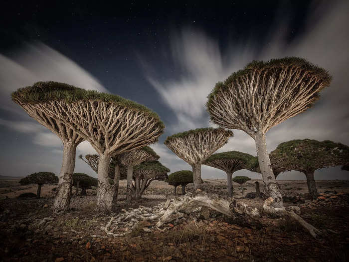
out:
M168 172L170 172L170 169L159 161L147 161L135 166L133 169L135 184L132 184L131 189L133 198L140 199L152 181L167 179Z

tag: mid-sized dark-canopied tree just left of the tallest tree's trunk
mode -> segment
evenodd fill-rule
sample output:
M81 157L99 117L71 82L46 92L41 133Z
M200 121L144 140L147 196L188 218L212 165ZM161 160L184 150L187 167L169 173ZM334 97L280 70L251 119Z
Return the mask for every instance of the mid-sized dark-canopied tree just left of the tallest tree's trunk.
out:
M258 165L256 158L239 151L228 151L211 155L204 165L223 170L228 178L228 196L233 196L233 173L241 169L252 169Z

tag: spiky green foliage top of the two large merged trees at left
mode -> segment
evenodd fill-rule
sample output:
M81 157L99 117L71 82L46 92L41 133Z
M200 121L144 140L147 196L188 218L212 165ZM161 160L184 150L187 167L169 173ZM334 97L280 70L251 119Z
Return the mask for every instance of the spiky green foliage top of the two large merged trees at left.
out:
M18 104L37 104L49 101L73 103L79 100L98 100L106 103L114 103L129 109L142 111L159 121L161 127L165 127L159 115L144 105L125 99L119 95L102 93L95 90L85 90L65 83L53 81L36 82L32 86L17 89L12 92L11 97Z

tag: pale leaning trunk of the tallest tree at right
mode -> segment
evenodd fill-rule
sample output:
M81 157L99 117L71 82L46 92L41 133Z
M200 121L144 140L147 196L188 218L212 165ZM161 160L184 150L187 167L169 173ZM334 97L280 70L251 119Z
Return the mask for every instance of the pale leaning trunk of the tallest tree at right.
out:
M265 142L265 134L258 132L255 135L256 151L259 167L262 173L263 182L265 184L266 193L274 199L272 206L274 208L282 208L282 195L279 184L276 182L273 170L271 168L267 144Z

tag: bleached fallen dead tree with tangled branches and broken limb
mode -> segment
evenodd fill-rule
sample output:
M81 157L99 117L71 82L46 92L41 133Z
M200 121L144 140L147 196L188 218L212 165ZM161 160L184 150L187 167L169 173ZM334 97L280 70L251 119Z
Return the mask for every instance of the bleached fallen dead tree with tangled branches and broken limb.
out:
M271 205L273 201L273 198L268 198L264 202L263 209L266 213L288 216L300 223L314 238L321 235L320 230L308 224L298 215L301 213L299 207L274 208ZM176 225L183 221L198 220L203 207L224 214L236 224L261 225L260 214L256 208L251 208L243 202L236 202L234 198L226 200L217 194L198 191L194 194L187 193L184 196L168 199L165 203L151 208L140 206L138 209L122 210L123 213L112 217L106 227L101 227L101 230L111 237L124 237L131 233L138 223L158 220L155 226L149 224L143 231L151 232L154 229L164 231L160 228L167 223Z

